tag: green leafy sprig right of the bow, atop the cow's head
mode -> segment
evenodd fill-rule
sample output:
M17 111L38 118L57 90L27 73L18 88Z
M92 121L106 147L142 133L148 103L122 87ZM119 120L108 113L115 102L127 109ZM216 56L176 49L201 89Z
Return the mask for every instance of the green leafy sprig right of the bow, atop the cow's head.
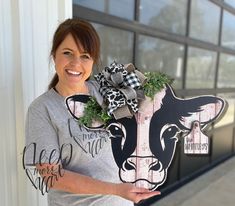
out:
M173 82L173 79L161 72L145 72L144 75L147 77L146 83L143 85L144 94L151 99L153 99L154 95L162 90L166 84Z

